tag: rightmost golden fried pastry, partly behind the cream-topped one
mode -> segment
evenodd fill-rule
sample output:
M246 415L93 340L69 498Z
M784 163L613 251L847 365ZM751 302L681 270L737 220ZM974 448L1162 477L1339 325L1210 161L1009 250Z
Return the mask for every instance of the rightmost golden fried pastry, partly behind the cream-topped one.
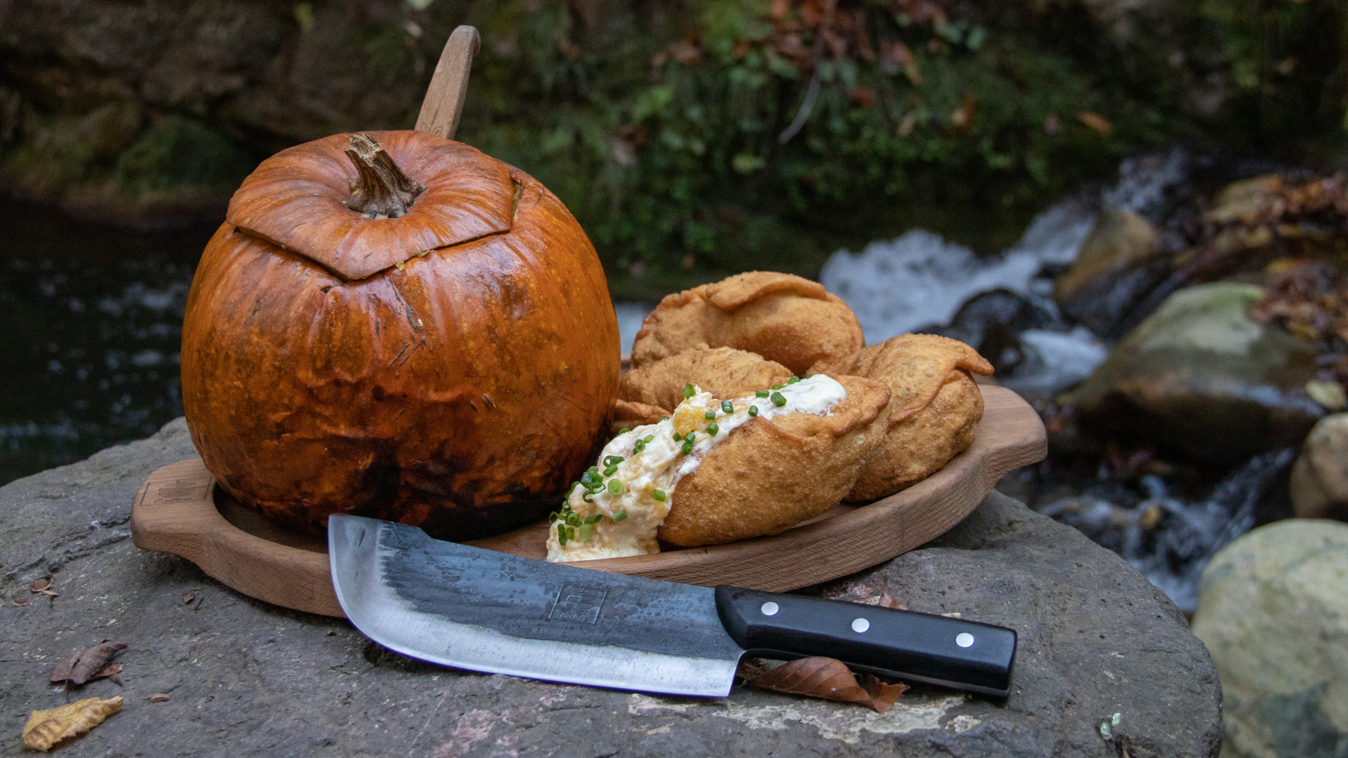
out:
M845 498L857 502L892 495L973 444L983 394L969 374L989 376L992 364L957 340L899 334L810 371L879 379L894 392L884 442Z

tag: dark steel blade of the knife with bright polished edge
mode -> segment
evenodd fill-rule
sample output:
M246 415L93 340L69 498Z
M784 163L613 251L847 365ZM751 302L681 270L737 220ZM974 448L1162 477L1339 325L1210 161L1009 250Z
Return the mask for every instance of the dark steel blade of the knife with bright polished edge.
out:
M528 678L725 696L743 650L710 588L549 564L328 519L333 587L365 637L425 661Z

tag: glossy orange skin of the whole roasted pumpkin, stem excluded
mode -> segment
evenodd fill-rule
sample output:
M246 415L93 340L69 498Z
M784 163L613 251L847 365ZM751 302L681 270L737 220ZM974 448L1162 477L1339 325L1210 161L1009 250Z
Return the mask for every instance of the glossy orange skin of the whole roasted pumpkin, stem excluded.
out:
M532 521L617 387L599 258L523 171L371 134L427 185L400 218L341 206L346 135L279 152L231 201L183 322L191 440L240 503L293 525L352 513L465 540Z

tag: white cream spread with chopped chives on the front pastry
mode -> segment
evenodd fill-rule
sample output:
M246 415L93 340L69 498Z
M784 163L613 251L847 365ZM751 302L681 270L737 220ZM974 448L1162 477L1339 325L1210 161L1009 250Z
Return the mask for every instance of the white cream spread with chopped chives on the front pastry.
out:
M697 469L713 446L755 415L832 415L847 398L842 384L822 374L767 390L767 394L729 401L731 411L727 413L724 401L693 387L693 395L674 409L674 415L638 426L604 445L599 465L586 472L582 483L572 486L566 498L569 513L554 514L547 534L547 560L589 561L659 553L655 531L674 504L674 488L679 479ZM776 398L785 402L776 405ZM692 445L687 445L689 436ZM565 544L559 529L568 531Z

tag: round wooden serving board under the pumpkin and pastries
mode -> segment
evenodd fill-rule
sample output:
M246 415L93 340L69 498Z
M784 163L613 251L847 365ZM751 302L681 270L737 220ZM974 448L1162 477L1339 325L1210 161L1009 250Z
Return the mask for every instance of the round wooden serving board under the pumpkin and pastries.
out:
M913 487L865 506L840 504L774 537L655 556L585 561L585 568L782 592L872 566L927 542L967 517L1011 469L1043 460L1043 425L1023 399L983 386L973 445ZM201 459L146 479L131 508L137 548L175 553L235 589L278 606L342 616L322 534L278 529L224 495ZM546 556L546 523L469 542L528 558Z

